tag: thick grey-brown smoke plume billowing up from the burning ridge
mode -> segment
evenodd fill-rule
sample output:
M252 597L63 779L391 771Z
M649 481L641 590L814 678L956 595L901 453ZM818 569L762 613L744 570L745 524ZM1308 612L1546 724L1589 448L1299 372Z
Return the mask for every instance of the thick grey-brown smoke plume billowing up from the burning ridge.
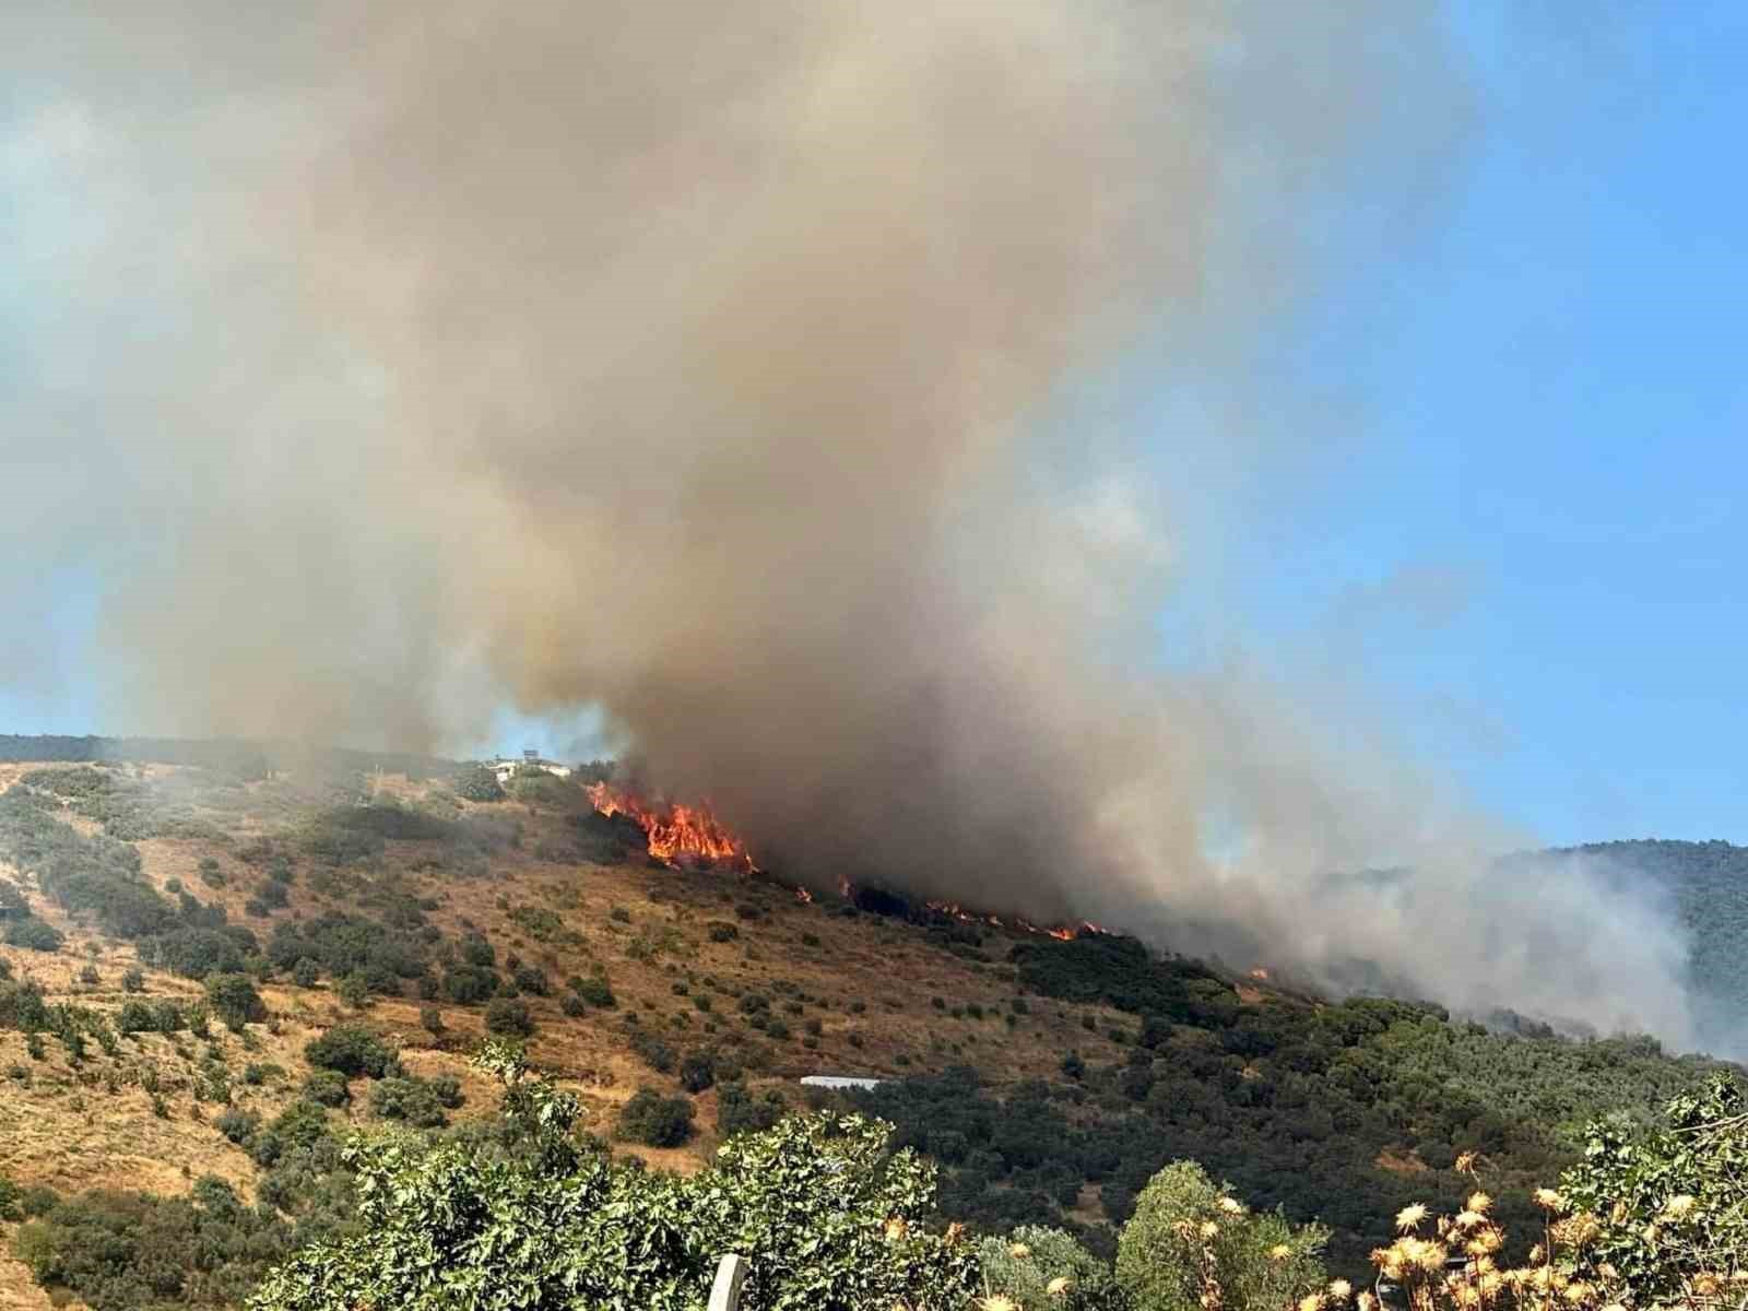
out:
M49 568L0 589L89 596L107 731L598 703L801 877L1685 1040L1652 909L1488 879L1514 836L1316 689L1157 668L1168 507L1314 458L1234 379L1318 196L1460 135L1421 10L14 7L0 533ZM1052 421L1148 353L1222 421Z

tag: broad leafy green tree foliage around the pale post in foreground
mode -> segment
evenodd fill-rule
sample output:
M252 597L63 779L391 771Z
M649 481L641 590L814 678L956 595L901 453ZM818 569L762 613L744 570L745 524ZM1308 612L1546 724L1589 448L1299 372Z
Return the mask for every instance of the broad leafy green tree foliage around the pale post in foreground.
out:
M505 1113L545 1147L535 1164L475 1143L355 1138L362 1236L273 1271L253 1311L378 1308L649 1308L704 1301L724 1252L748 1257L741 1306L961 1308L972 1245L925 1232L935 1169L888 1152L888 1126L797 1117L727 1143L692 1178L573 1147L579 1105L503 1049Z

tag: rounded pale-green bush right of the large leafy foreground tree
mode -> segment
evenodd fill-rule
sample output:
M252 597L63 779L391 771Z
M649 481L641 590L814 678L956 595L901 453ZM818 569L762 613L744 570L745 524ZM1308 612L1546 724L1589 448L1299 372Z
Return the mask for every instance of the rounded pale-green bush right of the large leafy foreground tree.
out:
M1255 1213L1194 1161L1175 1161L1141 1189L1117 1241L1117 1283L1134 1311L1292 1306L1325 1283L1321 1225Z

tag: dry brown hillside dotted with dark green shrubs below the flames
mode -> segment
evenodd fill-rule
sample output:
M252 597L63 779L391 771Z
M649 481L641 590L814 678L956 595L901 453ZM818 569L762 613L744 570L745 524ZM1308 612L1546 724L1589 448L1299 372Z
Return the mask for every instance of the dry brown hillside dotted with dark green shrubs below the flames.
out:
M49 1211L33 1232L58 1236L59 1283L101 1308L145 1278L166 1304L234 1302L350 1224L344 1129L489 1133L467 1063L488 1028L526 1035L586 1127L656 1168L804 1105L802 1075L869 1075L888 1082L853 1099L946 1166L946 1217L1108 1250L1141 1183L1196 1157L1334 1225L1332 1266L1355 1271L1397 1208L1460 1199L1460 1150L1521 1194L1587 1117L1648 1119L1703 1070L1647 1038L1332 1005L832 877L676 869L577 781L460 795L475 785L332 760L0 766L0 1176L14 1215ZM89 1269L91 1227L149 1269Z

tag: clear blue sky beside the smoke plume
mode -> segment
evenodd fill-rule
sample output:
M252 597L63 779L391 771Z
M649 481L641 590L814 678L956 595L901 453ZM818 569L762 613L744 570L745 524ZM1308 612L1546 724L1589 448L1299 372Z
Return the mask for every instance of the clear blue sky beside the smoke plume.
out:
M1474 122L1437 194L1379 245L1356 189L1269 357L1339 420L1187 519L1218 566L1185 572L1164 642L1363 689L1543 841L1748 841L1748 9L1498 0L1451 26ZM1141 406L1162 451L1171 406ZM44 591L12 643L77 669L89 607ZM0 729L103 727L77 675L7 668ZM505 717L495 745L538 731Z

